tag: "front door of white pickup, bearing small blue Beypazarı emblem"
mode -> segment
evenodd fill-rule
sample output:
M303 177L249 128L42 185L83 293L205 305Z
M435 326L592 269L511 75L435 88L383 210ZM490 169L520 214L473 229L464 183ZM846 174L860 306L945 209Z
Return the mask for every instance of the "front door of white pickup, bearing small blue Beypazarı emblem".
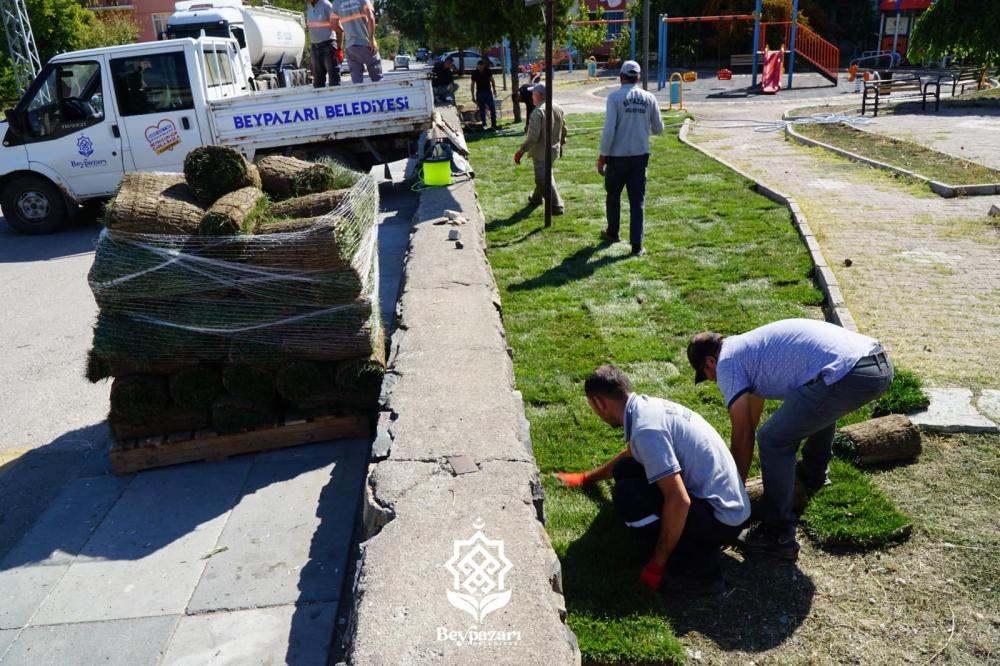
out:
M103 56L51 63L18 104L28 162L58 174L78 200L111 194L121 180L118 119L101 75Z

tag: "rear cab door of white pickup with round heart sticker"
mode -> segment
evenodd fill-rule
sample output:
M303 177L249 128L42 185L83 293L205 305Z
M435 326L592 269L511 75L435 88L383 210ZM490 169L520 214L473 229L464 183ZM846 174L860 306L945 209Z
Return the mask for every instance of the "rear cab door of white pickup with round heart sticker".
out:
M201 145L184 51L163 44L109 61L129 170L182 171L184 156Z

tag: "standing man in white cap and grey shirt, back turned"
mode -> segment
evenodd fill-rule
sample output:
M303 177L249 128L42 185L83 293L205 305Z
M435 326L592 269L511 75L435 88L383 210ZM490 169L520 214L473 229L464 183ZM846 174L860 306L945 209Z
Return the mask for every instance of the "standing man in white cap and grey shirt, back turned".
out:
M649 165L649 135L663 133L660 105L652 93L636 85L639 63L622 63L619 78L622 87L608 96L604 133L601 135L601 155L597 158L597 173L604 176L607 191L605 208L608 228L601 236L617 243L621 222L622 190L628 190L630 224L629 241L632 254L643 255L644 211L646 208L646 167Z

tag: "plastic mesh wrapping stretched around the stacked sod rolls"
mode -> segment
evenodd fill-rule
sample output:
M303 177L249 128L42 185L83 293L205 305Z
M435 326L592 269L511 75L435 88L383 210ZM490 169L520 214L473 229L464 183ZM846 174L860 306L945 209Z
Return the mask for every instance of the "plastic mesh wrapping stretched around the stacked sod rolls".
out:
M364 175L301 230L104 230L89 276L94 354L139 366L380 357L378 205Z

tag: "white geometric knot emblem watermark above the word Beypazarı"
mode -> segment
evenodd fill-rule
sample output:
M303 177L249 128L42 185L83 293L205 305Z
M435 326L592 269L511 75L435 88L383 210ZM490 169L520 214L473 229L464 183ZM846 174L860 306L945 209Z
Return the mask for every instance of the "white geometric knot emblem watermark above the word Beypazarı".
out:
M503 539L489 539L483 534L486 523L472 523L476 533L469 539L456 539L454 551L445 563L452 575L448 602L473 617L476 622L510 603L511 590L505 577L514 567L504 555Z

